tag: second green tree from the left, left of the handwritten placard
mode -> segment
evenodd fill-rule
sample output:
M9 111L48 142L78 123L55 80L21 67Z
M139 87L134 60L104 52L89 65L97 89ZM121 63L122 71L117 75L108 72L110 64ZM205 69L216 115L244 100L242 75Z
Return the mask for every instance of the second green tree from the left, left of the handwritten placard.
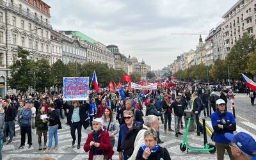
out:
M45 87L50 88L54 85L51 65L48 60L42 59L34 62L35 88L38 92L44 92Z

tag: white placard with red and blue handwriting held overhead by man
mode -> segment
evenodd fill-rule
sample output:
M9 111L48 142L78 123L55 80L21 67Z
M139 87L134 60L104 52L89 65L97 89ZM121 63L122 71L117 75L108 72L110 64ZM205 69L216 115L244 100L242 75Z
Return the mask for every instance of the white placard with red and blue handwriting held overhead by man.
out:
M63 100L87 100L89 77L63 77Z

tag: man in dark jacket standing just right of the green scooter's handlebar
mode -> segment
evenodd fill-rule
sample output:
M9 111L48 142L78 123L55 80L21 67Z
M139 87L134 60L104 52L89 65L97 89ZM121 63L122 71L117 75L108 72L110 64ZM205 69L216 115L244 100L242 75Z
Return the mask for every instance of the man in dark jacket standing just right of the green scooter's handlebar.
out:
M199 126L196 126L196 127L199 127L200 132L203 132L203 126L199 122L199 117L200 117L200 114L201 114L201 108L202 108L201 99L200 99L200 97L198 97L197 92L194 92L193 93L193 101L192 101L193 118L196 122L196 125L199 125Z

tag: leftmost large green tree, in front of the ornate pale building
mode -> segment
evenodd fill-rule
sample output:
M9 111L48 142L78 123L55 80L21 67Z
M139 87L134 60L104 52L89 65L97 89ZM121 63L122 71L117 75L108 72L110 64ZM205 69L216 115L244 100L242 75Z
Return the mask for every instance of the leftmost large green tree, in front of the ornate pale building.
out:
M26 92L29 87L35 85L35 76L32 69L33 61L27 59L28 55L29 51L18 46L17 57L19 60L15 61L13 65L10 66L12 77L7 78L8 86L10 86L11 89Z

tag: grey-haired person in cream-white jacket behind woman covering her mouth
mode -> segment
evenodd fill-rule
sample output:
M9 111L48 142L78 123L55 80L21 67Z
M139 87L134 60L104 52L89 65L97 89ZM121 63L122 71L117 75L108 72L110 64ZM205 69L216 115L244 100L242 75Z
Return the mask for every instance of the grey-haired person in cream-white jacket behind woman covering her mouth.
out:
M155 129L156 132L159 132L159 120L156 115L146 116L145 123L142 125L140 131L138 132L138 134L136 135L136 138L134 139L134 145L132 146L134 148L134 150L132 151L132 155L131 155L131 157L129 157L129 160L136 159L138 150L145 143L144 133L148 129ZM159 143L159 141L160 141L160 143L163 142L163 141L159 140L158 138L159 138L159 134L157 133L157 143Z

